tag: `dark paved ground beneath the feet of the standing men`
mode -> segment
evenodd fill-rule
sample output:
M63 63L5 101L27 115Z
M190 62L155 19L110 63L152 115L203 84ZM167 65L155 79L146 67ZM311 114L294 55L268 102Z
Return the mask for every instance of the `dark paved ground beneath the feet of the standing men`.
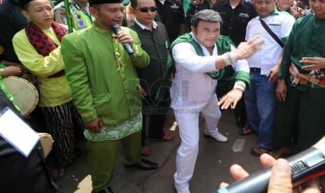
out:
M147 145L154 150L154 155L146 159L159 164L155 171L140 171L135 168L125 168L122 163L122 148L119 147L115 175L111 183L114 192L175 192L173 174L175 173L175 156L180 145L178 128L168 131L175 121L173 115L166 120L165 131L176 135L173 142L147 141ZM219 131L229 137L228 143L218 143L210 138L203 137L204 120L200 121L200 142L198 159L194 176L189 183L191 192L216 192L222 181L233 182L229 167L240 164L247 171L261 169L259 158L250 155L250 150L257 145L257 136L240 136L232 110L222 112L222 119L218 124ZM234 152L233 144L237 139L245 140L242 151ZM92 183L87 168L85 140L79 140L78 146L84 150L75 160L73 166L67 169L66 176L57 182L61 192L91 192Z

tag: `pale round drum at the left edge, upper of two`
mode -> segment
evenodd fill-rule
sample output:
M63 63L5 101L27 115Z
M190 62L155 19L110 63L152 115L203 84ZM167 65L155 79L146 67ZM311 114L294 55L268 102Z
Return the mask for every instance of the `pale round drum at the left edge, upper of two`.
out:
M17 106L23 116L29 115L38 103L38 91L36 87L28 80L16 76L8 76L2 79L10 94L13 95Z

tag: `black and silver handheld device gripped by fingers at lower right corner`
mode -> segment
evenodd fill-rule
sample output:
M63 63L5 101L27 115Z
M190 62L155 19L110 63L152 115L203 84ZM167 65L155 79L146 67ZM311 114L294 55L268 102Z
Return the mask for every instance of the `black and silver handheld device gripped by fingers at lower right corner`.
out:
M325 174L325 136L311 148L287 159L291 166L291 179L294 186L309 179L315 179ZM227 187L219 189L218 193L235 192L267 192L272 166L252 173Z

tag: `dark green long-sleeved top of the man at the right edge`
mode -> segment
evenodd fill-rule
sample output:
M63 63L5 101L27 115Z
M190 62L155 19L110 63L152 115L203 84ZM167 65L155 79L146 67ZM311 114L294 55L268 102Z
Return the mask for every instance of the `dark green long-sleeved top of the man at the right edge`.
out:
M301 67L309 64L301 64L299 62L301 58L325 57L324 31L325 20L318 20L314 14L301 17L296 21L283 50L278 73L279 79L287 79L287 84L290 85L289 66L291 62L295 64L299 73L306 74L310 71L305 71ZM298 90L305 90L306 87L324 89L324 87L312 85L310 82L305 85L296 85Z

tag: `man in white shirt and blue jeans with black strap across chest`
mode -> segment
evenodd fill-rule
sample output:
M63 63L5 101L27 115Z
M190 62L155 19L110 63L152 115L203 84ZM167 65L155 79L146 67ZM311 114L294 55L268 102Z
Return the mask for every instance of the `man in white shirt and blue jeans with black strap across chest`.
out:
M247 58L251 89L245 91L245 104L250 128L245 128L244 132L254 131L259 134L259 144L252 148L251 154L260 156L273 148L271 143L277 108L277 69L282 59L283 43L287 40L295 20L289 13L279 12L275 8L275 0L257 0L254 6L259 16L247 24L245 40L249 41L259 35L265 39L265 43L252 57ZM279 43L264 29L262 22L273 31Z

